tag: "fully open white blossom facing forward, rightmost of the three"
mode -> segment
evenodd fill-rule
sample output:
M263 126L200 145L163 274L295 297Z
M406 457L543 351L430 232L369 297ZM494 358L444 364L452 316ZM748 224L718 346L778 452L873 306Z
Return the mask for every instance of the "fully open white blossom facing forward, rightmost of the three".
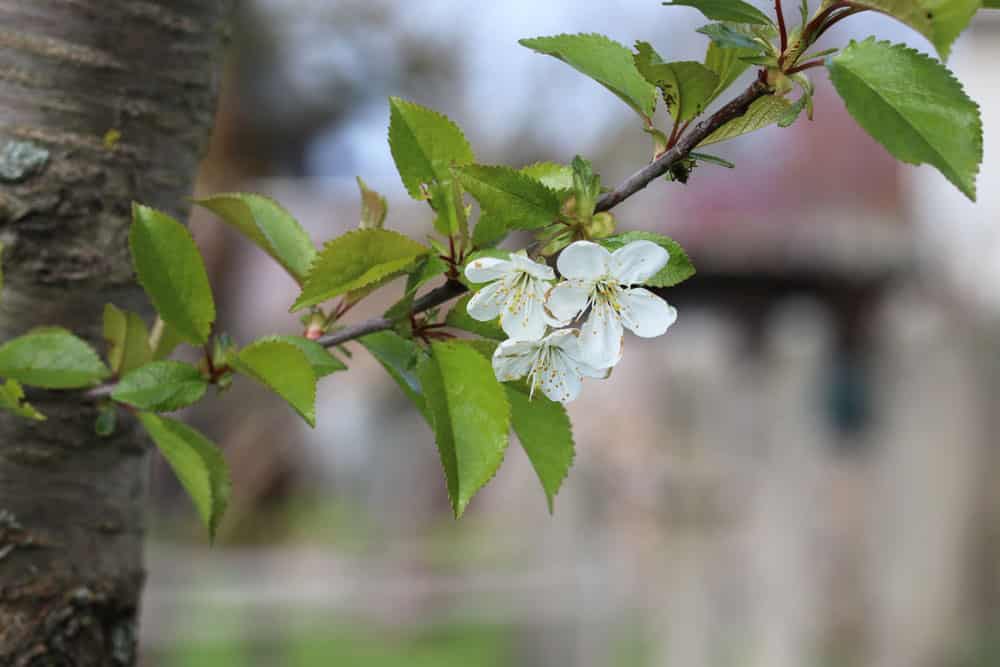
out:
M667 265L670 254L652 241L632 241L614 253L590 241L577 241L559 255L565 281L549 292L546 308L569 323L590 307L581 327L584 359L601 368L621 359L622 327L637 336L660 336L677 319L677 310L639 285Z

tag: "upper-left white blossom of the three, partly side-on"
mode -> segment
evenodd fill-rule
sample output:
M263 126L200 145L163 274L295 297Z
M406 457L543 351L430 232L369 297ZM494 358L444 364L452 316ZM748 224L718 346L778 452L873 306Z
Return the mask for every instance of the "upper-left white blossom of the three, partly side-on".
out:
M465 267L474 283L490 282L469 300L469 315L480 322L500 316L500 326L511 338L538 340L552 318L545 312L545 294L555 280L552 267L528 259L523 252L510 259L481 257Z

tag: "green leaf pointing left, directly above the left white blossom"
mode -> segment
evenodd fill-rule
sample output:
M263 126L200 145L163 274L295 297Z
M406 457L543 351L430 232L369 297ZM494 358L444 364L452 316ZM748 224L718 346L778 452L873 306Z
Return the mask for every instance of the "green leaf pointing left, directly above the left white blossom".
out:
M541 182L509 167L470 165L459 181L483 210L511 229L539 229L559 215L559 197Z

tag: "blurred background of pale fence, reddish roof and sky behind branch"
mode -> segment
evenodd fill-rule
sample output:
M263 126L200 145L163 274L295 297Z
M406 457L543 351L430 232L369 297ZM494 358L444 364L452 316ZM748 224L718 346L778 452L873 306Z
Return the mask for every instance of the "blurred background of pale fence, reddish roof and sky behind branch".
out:
M649 159L636 117L517 39L603 32L701 59L704 22L654 0L245 0L199 190L270 194L323 242L357 225L360 175L423 238L388 95L447 113L482 162L580 153L614 185ZM929 51L871 14L827 41L871 33ZM1000 12L950 62L986 122L976 205L897 164L817 70L814 122L724 144L735 170L616 209L699 274L668 293L668 335L630 338L571 404L554 516L512 444L453 520L429 428L358 346L315 430L249 383L190 411L235 496L210 548L154 470L144 664L1000 664L998 59ZM192 227L223 330L300 330L275 264L201 213Z

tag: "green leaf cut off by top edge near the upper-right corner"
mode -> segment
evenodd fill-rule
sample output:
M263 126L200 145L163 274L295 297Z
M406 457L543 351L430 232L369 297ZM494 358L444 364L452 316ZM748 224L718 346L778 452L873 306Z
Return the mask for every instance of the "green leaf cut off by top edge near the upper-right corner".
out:
M858 0L858 7L897 19L926 37L947 60L951 46L983 6L982 0Z

